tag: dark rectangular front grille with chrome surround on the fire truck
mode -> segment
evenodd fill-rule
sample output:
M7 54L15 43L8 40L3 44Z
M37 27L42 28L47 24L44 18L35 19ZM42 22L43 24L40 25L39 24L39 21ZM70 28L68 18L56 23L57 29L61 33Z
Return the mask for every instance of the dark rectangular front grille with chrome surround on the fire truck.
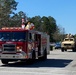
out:
M15 52L16 45L15 44L3 44L3 51L4 52Z

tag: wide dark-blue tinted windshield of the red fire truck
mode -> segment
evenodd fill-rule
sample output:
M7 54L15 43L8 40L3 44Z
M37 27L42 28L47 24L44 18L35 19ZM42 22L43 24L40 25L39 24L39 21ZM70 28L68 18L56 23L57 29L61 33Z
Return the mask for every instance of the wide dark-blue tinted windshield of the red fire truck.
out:
M0 32L0 41L25 41L26 32Z

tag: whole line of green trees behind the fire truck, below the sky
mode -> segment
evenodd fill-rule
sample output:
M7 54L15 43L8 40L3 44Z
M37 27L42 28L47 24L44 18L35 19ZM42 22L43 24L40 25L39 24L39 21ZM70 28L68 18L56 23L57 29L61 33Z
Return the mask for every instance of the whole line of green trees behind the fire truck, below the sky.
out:
M63 31L56 24L56 20L52 16L34 16L28 17L23 11L15 13L18 2L15 0L0 0L0 28L4 26L17 27L21 26L22 18L35 25L35 30L45 32L50 35L50 42L61 41L63 38Z

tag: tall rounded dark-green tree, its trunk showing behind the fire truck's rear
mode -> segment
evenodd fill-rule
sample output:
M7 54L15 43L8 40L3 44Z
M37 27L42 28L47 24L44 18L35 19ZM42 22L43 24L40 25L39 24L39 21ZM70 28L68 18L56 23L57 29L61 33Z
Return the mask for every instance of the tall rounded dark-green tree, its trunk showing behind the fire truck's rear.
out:
M57 24L56 21L53 17L49 16L49 17L42 17L43 20L43 31L48 33L50 35L50 41L53 42L53 34L56 31L57 28Z

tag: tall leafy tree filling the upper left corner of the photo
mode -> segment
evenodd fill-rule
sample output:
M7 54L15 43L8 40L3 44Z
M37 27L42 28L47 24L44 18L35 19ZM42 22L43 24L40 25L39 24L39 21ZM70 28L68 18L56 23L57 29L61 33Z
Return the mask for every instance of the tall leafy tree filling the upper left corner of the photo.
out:
M9 25L10 15L16 10L17 4L15 0L0 0L0 27Z

